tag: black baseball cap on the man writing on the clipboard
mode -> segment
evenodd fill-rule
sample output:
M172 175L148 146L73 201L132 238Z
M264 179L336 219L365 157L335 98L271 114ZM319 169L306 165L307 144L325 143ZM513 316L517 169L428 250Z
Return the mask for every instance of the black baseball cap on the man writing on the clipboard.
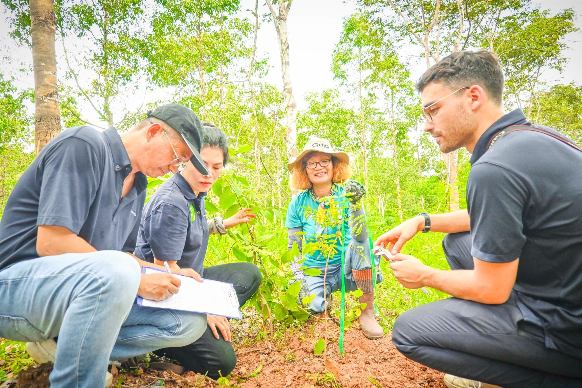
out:
M158 106L155 111L147 112L147 116L160 119L178 131L190 151L194 154L190 158L194 168L203 175L209 174L204 161L200 157L204 140L204 127L196 113L182 104L166 104Z

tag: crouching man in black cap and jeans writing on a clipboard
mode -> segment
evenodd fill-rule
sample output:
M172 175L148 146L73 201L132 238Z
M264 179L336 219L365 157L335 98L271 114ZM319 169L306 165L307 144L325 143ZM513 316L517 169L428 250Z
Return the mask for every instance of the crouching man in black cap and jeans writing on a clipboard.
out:
M0 337L28 341L54 361L51 387L106 385L109 359L197 340L206 317L141 308L180 280L141 274L155 266L126 254L136 245L147 176L178 172L200 158L203 127L186 106L168 104L119 134L88 126L59 134L26 169L0 222ZM176 271L201 281L192 269ZM58 346L54 339L58 336Z

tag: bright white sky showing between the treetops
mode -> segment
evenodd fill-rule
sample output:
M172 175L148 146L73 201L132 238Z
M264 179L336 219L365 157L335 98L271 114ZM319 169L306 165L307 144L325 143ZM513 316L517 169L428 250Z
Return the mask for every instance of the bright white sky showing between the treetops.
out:
M541 0L542 8L550 9L552 14L561 9L574 8L577 15L582 13L582 0ZM254 0L242 0L242 10L254 9ZM5 8L0 8L2 13ZM292 84L294 95L300 109L305 108L303 96L309 91L321 91L324 88L335 87L333 75L330 70L331 55L339 34L342 30L343 18L349 16L356 10L356 3L341 0L295 0L289 13L289 45L290 45L290 66L292 71ZM261 6L260 13L268 12L267 6ZM5 15L5 14L4 14ZM8 37L8 26L5 16L0 15L0 54L8 56L12 63L2 62L3 72L12 73L18 79L19 86L33 87L34 80L32 73L14 73L13 70L19 67L19 63L30 63L31 54L27 48L19 48ZM246 15L249 15L246 13ZM582 18L577 18L577 27L582 29ZM566 56L570 58L565 71L546 72L542 77L550 82L570 83L575 81L582 84L582 37L580 33L570 34L566 37L570 45ZM279 47L276 39L275 28L272 23L263 23L258 34L258 50L262 56L269 58L271 70L265 81L282 86L281 64L279 61ZM405 47L404 52L417 54L418 48ZM413 63L414 65L414 63ZM418 62L418 66L413 66L411 73L413 78L419 77L425 70L423 61ZM62 70L60 74L62 74ZM6 75L9 75L6 74ZM59 74L58 74L59 75ZM143 101L143 94L131 98L129 108L133 104L139 106ZM153 97L153 96L152 96ZM145 97L146 100L148 97ZM133 103L133 104L132 104ZM134 109L134 108L133 108ZM91 109L81 110L90 119L94 119Z

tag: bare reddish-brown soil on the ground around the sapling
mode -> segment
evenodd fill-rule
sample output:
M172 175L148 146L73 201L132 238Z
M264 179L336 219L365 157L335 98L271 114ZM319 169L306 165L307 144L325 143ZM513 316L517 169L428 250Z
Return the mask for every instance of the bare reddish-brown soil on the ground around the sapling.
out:
M360 330L346 330L345 356L339 354L339 329L328 325L327 362L324 354L314 355L317 340L324 337L324 324L306 326L237 350L238 362L230 384L240 388L311 388L315 386L364 388L446 388L443 373L407 359L392 345L391 337L366 339ZM145 369L138 375L119 373L125 378L121 387L218 387L214 380L188 373L154 372Z

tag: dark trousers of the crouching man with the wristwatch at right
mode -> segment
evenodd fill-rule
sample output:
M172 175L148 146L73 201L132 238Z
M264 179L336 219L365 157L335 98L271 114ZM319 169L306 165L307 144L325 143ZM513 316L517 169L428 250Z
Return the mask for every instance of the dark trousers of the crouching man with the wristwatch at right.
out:
M469 232L446 235L443 249L451 269L473 269ZM410 309L392 343L420 364L503 388L582 387L582 358L546 348L514 294L499 305L449 298Z

